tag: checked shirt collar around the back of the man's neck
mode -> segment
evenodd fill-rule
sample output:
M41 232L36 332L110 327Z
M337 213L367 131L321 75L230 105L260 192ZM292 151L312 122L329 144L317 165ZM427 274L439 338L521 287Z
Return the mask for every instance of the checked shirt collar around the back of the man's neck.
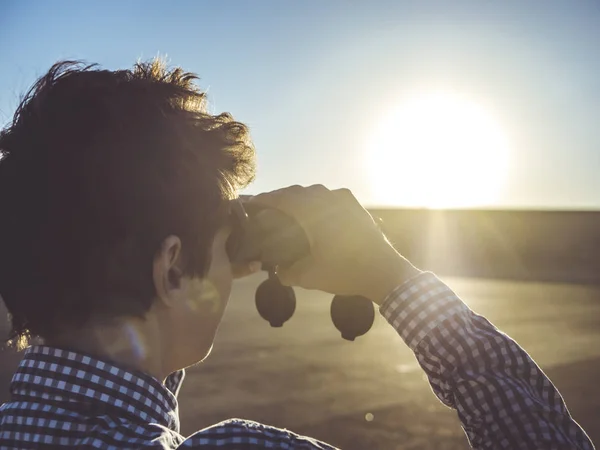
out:
M160 381L84 353L43 345L27 348L10 391L15 401L66 402L179 432L177 399Z

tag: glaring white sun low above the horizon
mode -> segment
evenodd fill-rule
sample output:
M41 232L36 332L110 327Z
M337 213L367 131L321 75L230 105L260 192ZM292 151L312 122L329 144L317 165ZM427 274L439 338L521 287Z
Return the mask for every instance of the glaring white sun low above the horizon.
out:
M476 103L449 93L402 101L369 137L372 195L380 205L489 206L506 180L509 145Z

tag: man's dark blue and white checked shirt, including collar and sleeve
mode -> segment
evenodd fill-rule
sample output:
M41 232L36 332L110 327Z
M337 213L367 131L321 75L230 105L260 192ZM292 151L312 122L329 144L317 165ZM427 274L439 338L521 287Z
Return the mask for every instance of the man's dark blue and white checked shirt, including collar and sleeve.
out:
M593 449L560 394L514 341L472 312L433 274L399 286L381 306L478 449ZM0 408L0 449L265 449L333 447L233 419L185 438L177 394L184 372L163 385L89 355L26 350ZM399 443L401 444L401 443Z

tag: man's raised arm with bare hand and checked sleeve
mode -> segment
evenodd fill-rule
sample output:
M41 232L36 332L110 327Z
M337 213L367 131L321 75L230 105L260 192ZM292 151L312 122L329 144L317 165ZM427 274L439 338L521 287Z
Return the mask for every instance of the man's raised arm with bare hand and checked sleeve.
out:
M310 256L278 270L282 283L380 305L473 447L593 449L529 355L397 253L352 192L291 186L250 201L295 218L309 238Z

